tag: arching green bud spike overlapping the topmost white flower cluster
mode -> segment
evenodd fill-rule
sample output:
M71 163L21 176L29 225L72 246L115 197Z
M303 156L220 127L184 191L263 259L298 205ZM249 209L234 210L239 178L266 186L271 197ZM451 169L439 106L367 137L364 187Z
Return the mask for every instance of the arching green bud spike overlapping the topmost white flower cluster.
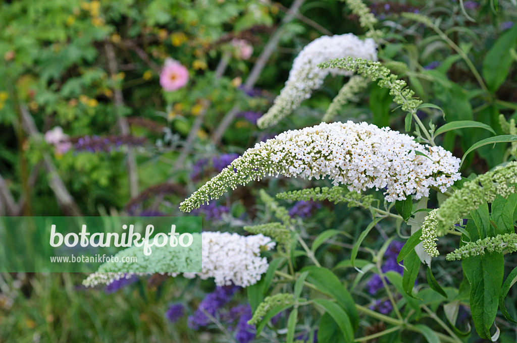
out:
M422 103L421 100L413 98L415 92L407 88L403 80L398 80L398 76L391 74L390 70L380 62L351 57L338 58L326 61L318 65L320 68L341 68L355 71L364 77L370 77L373 81L383 88L389 88L390 95L394 101L401 105L402 110L409 113L416 113L417 107Z

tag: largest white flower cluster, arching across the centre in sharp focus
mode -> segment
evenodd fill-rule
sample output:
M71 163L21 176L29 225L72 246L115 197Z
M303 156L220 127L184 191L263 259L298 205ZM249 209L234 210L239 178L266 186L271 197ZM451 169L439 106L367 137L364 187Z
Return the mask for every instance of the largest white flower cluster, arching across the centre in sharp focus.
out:
M417 151L424 155L417 154ZM429 195L431 187L445 192L461 178L460 160L442 147L416 143L413 137L352 121L321 123L289 130L257 143L209 180L180 209L190 212L217 199L227 188L260 180L266 175L320 179L345 184L349 191L386 189L389 202Z

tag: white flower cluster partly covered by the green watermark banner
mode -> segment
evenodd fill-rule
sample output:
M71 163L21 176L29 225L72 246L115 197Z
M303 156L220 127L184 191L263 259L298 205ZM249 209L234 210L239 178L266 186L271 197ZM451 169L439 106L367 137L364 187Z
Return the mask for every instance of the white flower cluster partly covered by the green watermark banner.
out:
M198 235L196 233L193 236ZM98 284L112 284L121 278L130 278L133 275L149 275L149 270L187 270L195 252L202 245L201 264L199 273L183 273L187 278L199 276L202 279L213 277L217 286L236 285L248 287L261 279L269 268L262 251L271 250L275 242L264 235L240 236L229 232L202 232L201 240L194 237L194 243L186 249L171 249L168 246L154 247L153 253L145 256L140 247L130 247L119 252L116 256L136 256L139 271L125 273L125 263L104 263L96 273L90 274L84 281L85 286ZM143 262L140 262L143 261ZM170 273L177 276L181 273Z

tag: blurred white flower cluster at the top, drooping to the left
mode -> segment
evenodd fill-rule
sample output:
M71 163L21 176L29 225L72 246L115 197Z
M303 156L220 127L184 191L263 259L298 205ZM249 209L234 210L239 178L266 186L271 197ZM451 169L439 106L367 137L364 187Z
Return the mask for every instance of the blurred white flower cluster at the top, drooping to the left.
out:
M351 71L343 69L321 69L318 64L347 56L377 60L376 48L373 39L363 41L354 34L323 36L309 43L295 58L285 87L269 111L258 119L258 127L272 126L293 112L303 100L310 98L314 89L321 87L329 73L352 75Z

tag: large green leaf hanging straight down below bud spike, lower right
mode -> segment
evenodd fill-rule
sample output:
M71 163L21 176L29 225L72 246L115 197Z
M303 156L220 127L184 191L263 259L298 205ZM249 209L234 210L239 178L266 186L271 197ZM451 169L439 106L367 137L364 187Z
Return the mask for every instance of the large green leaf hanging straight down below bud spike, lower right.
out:
M491 339L490 328L499 305L499 294L504 276L501 253L485 253L462 261L463 271L470 283L470 312L474 327L481 338Z

